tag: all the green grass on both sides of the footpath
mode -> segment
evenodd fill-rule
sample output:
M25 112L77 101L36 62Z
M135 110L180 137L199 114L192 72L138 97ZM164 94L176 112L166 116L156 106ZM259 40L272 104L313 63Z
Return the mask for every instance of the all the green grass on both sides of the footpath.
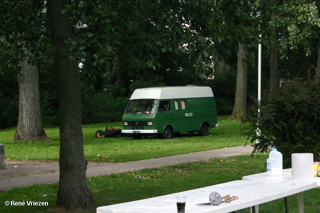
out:
M141 140L94 138L96 130L104 130L105 126L120 127L120 123L84 125L85 157L88 161L125 162L244 145L246 140L241 135L241 129L246 125L237 121L227 121L227 118L228 116L219 116L218 123L220 126L211 129L209 136L200 137L196 133L182 134L170 140L157 138ZM57 161L58 129L46 128L45 131L53 141L12 142L14 129L0 130L2 136L0 143L5 146L6 158ZM97 157L97 155L100 155L100 157ZM265 172L267 158L268 154L266 153L248 154L88 178L87 184L96 206L85 210L84 213L95 213L95 208L99 206L241 180L243 176ZM0 213L60 213L54 208L57 187L58 184L48 184L2 191L0 192ZM296 195L288 197L290 213L297 213L296 199ZM304 213L320 213L319 200L320 191L318 189L306 191L304 193ZM47 202L48 207L6 207L4 205L5 201ZM249 209L237 211L237 213L249 212ZM284 201L280 199L262 204L259 207L259 212L284 213Z

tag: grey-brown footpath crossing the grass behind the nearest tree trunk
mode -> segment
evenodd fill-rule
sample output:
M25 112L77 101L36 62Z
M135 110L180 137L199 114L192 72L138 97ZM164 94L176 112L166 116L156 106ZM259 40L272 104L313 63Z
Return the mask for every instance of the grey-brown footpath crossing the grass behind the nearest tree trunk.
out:
M252 150L253 147L251 146L239 146L125 163L88 162L86 177L244 155L251 153ZM0 191L33 186L34 184L57 183L59 181L59 164L57 162L10 160L6 161L5 167L5 170L0 170Z

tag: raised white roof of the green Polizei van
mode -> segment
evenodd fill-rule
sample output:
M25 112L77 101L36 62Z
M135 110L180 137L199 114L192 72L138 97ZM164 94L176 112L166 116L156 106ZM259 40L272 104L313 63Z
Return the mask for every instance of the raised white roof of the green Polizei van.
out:
M206 86L169 86L149 87L136 89L132 93L132 99L181 99L213 97L210 87Z

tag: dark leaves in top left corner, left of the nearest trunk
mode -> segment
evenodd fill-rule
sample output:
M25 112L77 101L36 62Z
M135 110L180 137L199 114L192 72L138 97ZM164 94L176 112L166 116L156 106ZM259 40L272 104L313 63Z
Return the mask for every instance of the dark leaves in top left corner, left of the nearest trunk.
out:
M48 32L43 25L43 2L13 1L0 2L0 64L19 67L26 58L41 67L50 54ZM27 55L30 50L32 55ZM18 70L19 68L15 69Z

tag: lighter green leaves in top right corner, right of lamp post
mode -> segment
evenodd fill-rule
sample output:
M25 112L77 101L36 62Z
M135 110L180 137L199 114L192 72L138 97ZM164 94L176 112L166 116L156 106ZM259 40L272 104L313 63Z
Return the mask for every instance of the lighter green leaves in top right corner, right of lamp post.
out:
M264 15L260 24L263 40L271 39L270 47L264 43L262 45L263 55L268 54L265 50L271 49L270 86L278 84L278 77L291 79L296 76L307 77L308 72L312 72L313 75L314 69L310 68L317 66L316 58L320 46L318 2L312 0L257 2L257 8L263 11Z

